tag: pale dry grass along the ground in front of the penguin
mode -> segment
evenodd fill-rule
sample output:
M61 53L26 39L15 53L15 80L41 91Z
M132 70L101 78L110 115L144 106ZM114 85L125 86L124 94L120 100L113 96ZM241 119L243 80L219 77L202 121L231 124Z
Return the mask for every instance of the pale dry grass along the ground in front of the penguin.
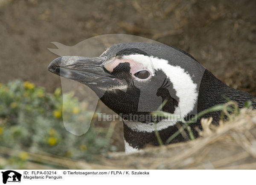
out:
M109 153L98 164L48 153L28 153L28 169L256 169L256 110L243 108L232 121L215 127L202 119L202 136L191 142L146 147L140 153ZM0 147L5 156L19 150ZM1 159L0 161L3 161Z

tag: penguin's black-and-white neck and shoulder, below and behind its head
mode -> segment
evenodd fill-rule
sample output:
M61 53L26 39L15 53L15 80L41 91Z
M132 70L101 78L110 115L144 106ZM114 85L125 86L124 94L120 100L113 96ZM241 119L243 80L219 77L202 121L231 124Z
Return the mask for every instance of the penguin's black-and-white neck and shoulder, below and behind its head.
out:
M229 98L230 100L236 101L239 105L239 108L244 107L245 101L256 100L256 98L249 93L228 87L206 69L199 87L197 107L194 108L194 110L197 108L197 111L195 111L195 113L199 113L209 107L218 104L226 103L227 100L225 97ZM168 99L168 97L162 98L163 100L166 98ZM253 102L253 107L256 108L255 102ZM214 113L209 113L204 116L212 117L215 122L218 122L220 113L221 112L218 111ZM161 128L161 126L163 125L165 125L165 127ZM157 123L157 128L159 128L158 133L164 143L170 136L172 136L173 133L178 130L176 125L177 122L175 121L168 123L160 121ZM200 119L198 119L196 123L191 124L191 129L194 136L198 137L198 132L195 130L196 126L201 128ZM151 130L149 129L150 127ZM153 123L145 124L137 121L124 121L125 151L127 153L134 152L136 150L142 149L146 144L159 145L154 133L154 129L152 127L154 127ZM171 143L183 141L186 141L186 139L184 139L183 136L179 134L174 140L172 140Z

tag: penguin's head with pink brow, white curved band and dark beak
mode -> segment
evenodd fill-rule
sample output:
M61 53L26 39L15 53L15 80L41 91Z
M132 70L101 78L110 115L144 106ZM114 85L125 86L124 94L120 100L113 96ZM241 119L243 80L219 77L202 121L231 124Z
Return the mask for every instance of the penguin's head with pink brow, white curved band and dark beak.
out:
M118 114L163 111L187 116L195 109L205 68L191 55L162 43L118 43L99 57L63 56L48 70L90 87Z

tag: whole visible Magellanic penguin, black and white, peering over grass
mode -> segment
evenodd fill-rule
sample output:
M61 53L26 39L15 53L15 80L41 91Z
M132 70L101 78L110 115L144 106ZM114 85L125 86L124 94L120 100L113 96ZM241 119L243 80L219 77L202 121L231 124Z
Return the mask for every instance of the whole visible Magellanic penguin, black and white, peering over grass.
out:
M256 108L255 97L227 86L187 52L163 43L117 43L96 58L56 58L48 70L90 87L123 118L126 153L138 152L147 144L159 145L155 129L166 142L182 119L224 104L227 97L239 108L246 101L252 101ZM176 115L175 119L152 117L151 112L159 108ZM205 117L211 116L218 123L220 114L218 111ZM190 127L198 137L195 128L201 128L200 119ZM171 143L185 141L179 134Z

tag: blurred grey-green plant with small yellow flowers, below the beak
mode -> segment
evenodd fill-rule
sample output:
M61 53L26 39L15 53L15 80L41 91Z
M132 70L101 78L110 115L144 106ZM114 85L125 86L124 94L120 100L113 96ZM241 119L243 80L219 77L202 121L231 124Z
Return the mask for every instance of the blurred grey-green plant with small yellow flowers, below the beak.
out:
M109 150L107 130L99 130L91 124L87 133L75 136L65 129L62 113L71 122L93 114L86 111L72 93L62 96L60 88L50 94L29 81L0 84L0 145L87 161ZM20 155L21 161L26 158L25 153Z

